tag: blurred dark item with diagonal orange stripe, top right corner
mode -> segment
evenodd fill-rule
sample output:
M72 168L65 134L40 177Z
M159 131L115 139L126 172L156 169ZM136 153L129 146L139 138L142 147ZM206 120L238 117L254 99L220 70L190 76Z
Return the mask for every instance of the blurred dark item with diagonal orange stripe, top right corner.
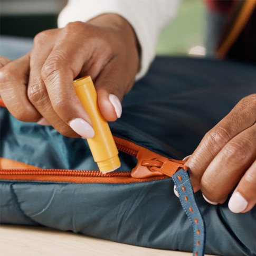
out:
M256 64L256 1L205 0L208 55Z

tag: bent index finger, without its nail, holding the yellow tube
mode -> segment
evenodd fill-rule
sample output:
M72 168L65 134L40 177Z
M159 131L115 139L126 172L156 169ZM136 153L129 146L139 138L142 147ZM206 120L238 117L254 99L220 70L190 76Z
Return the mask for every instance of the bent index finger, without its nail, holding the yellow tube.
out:
M75 118L91 120L75 94L73 79L84 63L75 42L56 45L42 67L42 78L54 111L67 124Z

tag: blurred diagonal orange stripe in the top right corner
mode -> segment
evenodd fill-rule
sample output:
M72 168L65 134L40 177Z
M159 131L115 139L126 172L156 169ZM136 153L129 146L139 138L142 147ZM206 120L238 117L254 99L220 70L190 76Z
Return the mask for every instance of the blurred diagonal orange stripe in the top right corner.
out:
M227 51L229 51L234 41L238 38L239 34L241 33L244 25L248 21L255 7L256 7L256 1L254 0L247 0L244 3L242 10L238 18L236 19L232 29L230 30L229 34L226 36L226 39L224 40L224 42L220 45L219 49L217 50L217 53L216 53L217 58L220 58L220 59L224 58Z

